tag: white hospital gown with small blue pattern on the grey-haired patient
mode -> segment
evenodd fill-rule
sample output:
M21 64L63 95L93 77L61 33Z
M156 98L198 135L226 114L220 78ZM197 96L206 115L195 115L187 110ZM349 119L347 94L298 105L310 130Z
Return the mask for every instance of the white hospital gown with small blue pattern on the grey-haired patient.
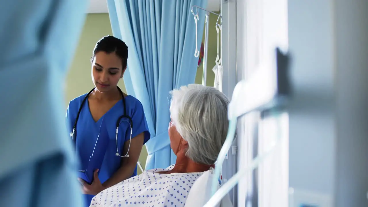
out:
M166 169L156 168L141 175L124 180L97 194L91 207L98 206L142 206L142 207L184 207L188 193L201 173L171 173L174 165Z

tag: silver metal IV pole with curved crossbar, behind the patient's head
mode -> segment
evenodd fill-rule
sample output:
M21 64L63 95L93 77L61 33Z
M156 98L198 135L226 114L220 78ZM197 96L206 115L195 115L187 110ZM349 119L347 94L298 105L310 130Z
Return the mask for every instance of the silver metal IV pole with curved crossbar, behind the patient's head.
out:
M197 14L194 14L194 11L193 11L193 8L195 8L195 10L197 11ZM198 16L199 17L199 15L198 15L198 8L199 9L201 9L201 10L204 10L204 11L206 11L206 20L205 20L205 25L206 25L206 27L205 27L205 48L204 48L204 54L203 54L203 76L202 76L202 85L206 85L206 83L207 83L207 53L208 53L208 25L209 25L209 14L210 13L212 13L212 14L215 14L215 15L217 15L217 16L219 16L218 18L217 18L217 22L216 22L216 24L219 24L219 20L221 20L220 22L220 24L222 24L222 16L221 16L221 14L217 14L217 13L214 13L214 12L212 12L212 11L208 11L208 10L206 10L206 9L204 9L204 8L202 8L202 7L199 7L199 6L192 6L192 9L191 9L191 12L192 12L192 14L194 15L194 16ZM222 36L221 36L221 39L222 39ZM221 43L222 43L222 41L221 41ZM221 44L221 46L222 46L222 44ZM222 52L222 47L221 47L221 52Z

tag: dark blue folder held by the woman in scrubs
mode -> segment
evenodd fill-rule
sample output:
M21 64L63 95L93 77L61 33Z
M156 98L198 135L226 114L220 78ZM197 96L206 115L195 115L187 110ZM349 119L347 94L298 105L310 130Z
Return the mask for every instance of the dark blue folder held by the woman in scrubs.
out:
M95 172L96 169L99 169L100 172L108 144L109 134L107 133L106 122L102 119L95 147L93 148L91 157L89 157L88 164L85 166L85 169L79 170L79 178L83 179L86 183L92 184L93 172Z

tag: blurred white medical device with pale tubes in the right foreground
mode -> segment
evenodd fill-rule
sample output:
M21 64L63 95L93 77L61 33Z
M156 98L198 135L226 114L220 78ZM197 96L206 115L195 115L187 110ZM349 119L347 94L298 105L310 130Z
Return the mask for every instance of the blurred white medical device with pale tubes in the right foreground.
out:
M220 150L216 163L222 166L226 153L233 141L237 118L254 110L272 110L283 107L286 98L290 95L290 83L288 77L289 56L276 49L275 61L269 65L262 65L248 80L240 81L234 88L233 97L229 103L228 118L229 130L223 147ZM262 81L263 87L255 90L254 85L259 85ZM255 169L259 163L267 157L279 143L277 141L273 147L263 155L258 155L245 169L238 171L219 190L217 190L217 178L220 175L220 168L215 169L212 180L212 197L205 207L215 206L231 190L248 171ZM217 190L217 192L216 192Z

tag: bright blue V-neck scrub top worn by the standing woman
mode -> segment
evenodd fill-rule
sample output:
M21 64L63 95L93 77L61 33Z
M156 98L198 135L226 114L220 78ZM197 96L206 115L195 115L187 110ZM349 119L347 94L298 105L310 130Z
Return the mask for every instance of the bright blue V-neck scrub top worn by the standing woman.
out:
M87 94L81 95L72 101L69 102L69 106L66 114L66 126L68 129L68 133L72 131L75 119L77 117L77 113L79 107L83 99ZM128 95L125 97L125 105L127 115L129 115L133 122L133 134L132 138L138 136L144 132L144 144L149 140L150 134L148 130L148 125L146 121L146 117L144 115L144 110L142 103L138 101L138 99ZM123 115L124 106L123 100L118 101L109 111L103 115L97 122L93 120L91 112L89 110L88 101L85 101L81 113L79 115L78 123L77 123L77 151L79 152L79 163L81 166L85 166L89 157L92 154L93 148L95 147L96 139L99 133L99 127L103 122L106 123L107 131L109 134L110 142L107 147L107 151L105 154L105 158L103 159L103 163L101 169L99 169L99 179L101 183L104 183L107 179L109 179L120 167L121 157L116 156L116 122L118 118ZM123 118L120 120L120 126L118 130L118 149L120 155L123 154L123 145L125 141L129 141L130 139L130 123L127 118ZM132 176L137 175L137 166L135 166L134 173ZM85 206L89 206L91 204L91 200L94 197L93 195L84 195L85 196Z

